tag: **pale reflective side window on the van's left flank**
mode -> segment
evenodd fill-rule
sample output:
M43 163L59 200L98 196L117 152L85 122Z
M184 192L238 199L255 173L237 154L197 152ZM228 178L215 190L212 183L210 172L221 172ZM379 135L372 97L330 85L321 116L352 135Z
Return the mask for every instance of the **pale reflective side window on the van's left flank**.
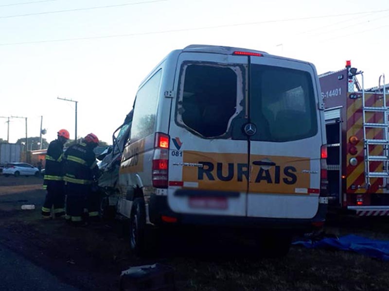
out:
M137 93L131 128L134 141L154 133L161 75L159 70Z

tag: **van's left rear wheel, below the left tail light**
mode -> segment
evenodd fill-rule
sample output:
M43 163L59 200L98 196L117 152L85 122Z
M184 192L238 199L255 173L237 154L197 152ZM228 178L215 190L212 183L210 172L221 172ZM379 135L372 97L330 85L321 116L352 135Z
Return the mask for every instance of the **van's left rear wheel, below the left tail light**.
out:
M146 215L142 198L136 198L130 215L130 247L137 256L145 253Z

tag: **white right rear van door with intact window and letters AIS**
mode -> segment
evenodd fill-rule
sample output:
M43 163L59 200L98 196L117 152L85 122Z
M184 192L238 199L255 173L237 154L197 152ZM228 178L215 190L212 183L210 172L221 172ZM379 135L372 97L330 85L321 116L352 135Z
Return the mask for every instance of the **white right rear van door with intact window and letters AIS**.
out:
M315 71L303 62L249 57L247 215L315 216L320 186Z

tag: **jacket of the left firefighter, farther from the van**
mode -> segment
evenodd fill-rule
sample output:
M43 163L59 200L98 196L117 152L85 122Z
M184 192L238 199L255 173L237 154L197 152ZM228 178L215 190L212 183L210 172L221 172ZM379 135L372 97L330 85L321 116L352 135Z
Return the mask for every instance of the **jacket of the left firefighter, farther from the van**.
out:
M46 188L51 181L63 180L63 144L58 139L53 140L46 154L45 176L43 187ZM46 187L45 187L46 186Z

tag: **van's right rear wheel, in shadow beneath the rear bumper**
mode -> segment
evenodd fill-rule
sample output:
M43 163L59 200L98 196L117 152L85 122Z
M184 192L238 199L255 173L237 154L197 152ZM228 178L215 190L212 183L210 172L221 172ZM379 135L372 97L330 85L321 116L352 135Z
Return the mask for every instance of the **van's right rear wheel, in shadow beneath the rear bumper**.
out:
M261 257L285 257L290 249L292 237L281 233L263 233L256 240Z

